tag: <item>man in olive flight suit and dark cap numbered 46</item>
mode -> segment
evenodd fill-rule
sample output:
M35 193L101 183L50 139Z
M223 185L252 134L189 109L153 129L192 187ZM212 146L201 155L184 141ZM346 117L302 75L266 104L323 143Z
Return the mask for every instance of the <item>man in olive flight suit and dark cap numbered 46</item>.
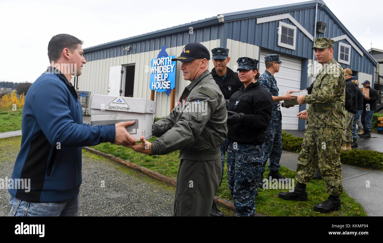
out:
M209 69L210 52L198 42L187 44L179 57L185 87L169 116L152 126L153 143L127 145L149 155L180 150L174 216L210 216L221 181L221 144L228 135L226 102Z

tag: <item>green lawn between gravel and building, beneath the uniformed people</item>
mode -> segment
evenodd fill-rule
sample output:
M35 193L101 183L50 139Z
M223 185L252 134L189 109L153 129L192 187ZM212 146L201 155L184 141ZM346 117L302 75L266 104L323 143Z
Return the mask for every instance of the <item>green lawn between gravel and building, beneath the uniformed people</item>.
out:
M155 138L156 137L153 137L148 141L153 142ZM136 153L132 149L111 143L102 143L92 147L101 152L112 154L121 159L128 160L142 167L146 167L147 169L177 179L177 171L180 161L178 159L178 151L167 155L149 156ZM296 174L295 171L289 170L283 166L280 169L280 173L288 178L294 178ZM264 173L265 178L267 175L268 168L266 166L266 172ZM350 198L345 192L340 195L342 202L341 210L331 213L315 212L313 210L314 204L327 200L328 194L326 192L325 183L323 180L311 180L311 183L307 185L306 190L308 192L309 200L307 202L297 202L285 201L282 198L278 198L279 192L288 190L261 188L258 191L259 195L255 197L256 211L257 213L262 213L267 216L367 216L367 213L363 210L362 206L355 202L353 198ZM233 200L228 187L226 170L217 196L230 200L231 202Z

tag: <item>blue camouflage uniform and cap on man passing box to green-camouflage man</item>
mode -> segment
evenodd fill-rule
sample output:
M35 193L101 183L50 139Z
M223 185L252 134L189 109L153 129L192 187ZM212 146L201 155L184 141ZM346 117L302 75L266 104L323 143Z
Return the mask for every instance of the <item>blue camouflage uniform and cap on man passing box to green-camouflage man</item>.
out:
M265 62L267 61L278 61L279 55L270 54L265 56ZM267 70L259 76L259 84L264 87L272 96L278 96L279 89L277 87L277 81L274 76ZM282 113L279 101L273 102L273 111L271 114L270 124L266 131L266 141L265 141L265 157L262 165L262 172L265 172L265 166L267 160L270 158L268 169L270 171L278 171L281 165L279 160L282 156ZM261 180L263 178L260 178Z

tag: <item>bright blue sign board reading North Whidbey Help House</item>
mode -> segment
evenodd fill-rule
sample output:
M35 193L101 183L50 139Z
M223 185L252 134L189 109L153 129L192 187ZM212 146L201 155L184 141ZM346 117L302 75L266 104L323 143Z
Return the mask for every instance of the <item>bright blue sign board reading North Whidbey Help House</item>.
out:
M157 58L150 63L150 89L165 92L169 96L175 87L175 68L177 61L172 61L175 56L169 56L162 46Z

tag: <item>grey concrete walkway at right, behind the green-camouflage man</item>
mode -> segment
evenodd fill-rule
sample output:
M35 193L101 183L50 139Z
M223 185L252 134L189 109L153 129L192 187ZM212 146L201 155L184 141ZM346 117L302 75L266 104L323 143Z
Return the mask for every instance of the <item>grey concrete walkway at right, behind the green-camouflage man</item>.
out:
M303 137L304 131L287 130L296 137ZM383 152L383 134L372 133L371 139L358 138L358 149ZM283 150L280 164L296 170L298 153ZM383 170L362 168L342 164L343 187L350 197L362 205L369 216L383 216ZM366 187L366 186L370 187Z

